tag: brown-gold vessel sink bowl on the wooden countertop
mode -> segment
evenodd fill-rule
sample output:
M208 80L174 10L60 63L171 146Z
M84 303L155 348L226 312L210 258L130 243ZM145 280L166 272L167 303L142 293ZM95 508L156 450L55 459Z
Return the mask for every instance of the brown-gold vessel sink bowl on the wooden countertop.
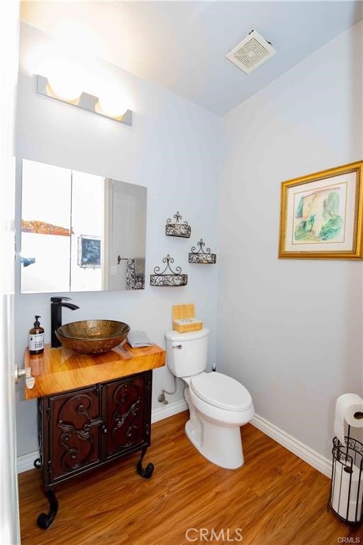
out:
M55 334L62 346L75 352L98 354L122 343L129 331L130 326L123 321L83 320L60 326Z

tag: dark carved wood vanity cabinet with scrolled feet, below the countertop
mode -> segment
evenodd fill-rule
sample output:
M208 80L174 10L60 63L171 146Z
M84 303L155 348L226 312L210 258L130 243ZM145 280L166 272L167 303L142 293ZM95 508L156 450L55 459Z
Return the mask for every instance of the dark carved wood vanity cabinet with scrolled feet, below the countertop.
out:
M38 517L48 528L57 513L57 485L115 458L141 451L138 473L150 445L152 371L69 390L38 400L38 435L45 495L50 512ZM36 461L37 462L37 461Z

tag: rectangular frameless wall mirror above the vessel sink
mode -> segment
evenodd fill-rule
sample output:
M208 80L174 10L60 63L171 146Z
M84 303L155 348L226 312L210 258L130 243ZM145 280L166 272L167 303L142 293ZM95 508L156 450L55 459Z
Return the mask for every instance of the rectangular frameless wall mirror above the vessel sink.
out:
M21 292L145 288L147 188L23 160Z

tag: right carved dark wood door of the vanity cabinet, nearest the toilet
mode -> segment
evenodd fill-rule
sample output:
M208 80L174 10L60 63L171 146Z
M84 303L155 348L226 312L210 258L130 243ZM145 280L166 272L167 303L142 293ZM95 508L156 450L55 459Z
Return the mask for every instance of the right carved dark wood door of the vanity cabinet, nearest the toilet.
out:
M151 373L110 382L106 386L106 458L149 444Z

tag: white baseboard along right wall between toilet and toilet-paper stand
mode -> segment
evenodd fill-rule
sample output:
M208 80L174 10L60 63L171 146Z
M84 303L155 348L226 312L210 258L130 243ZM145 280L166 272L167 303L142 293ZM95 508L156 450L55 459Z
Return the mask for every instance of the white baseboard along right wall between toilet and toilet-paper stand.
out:
M250 424L263 431L264 434L274 439L274 441L280 445L287 448L288 451L296 454L298 458L301 458L301 460L307 462L310 464L310 466L313 466L313 468L320 471L320 473L323 473L327 477L331 478L332 462L328 460L328 458L325 458L325 456L313 451L312 448L301 443L301 441L298 441L298 439L295 439L295 437L286 434L286 431L278 428L268 420L260 417L258 414L255 414Z

